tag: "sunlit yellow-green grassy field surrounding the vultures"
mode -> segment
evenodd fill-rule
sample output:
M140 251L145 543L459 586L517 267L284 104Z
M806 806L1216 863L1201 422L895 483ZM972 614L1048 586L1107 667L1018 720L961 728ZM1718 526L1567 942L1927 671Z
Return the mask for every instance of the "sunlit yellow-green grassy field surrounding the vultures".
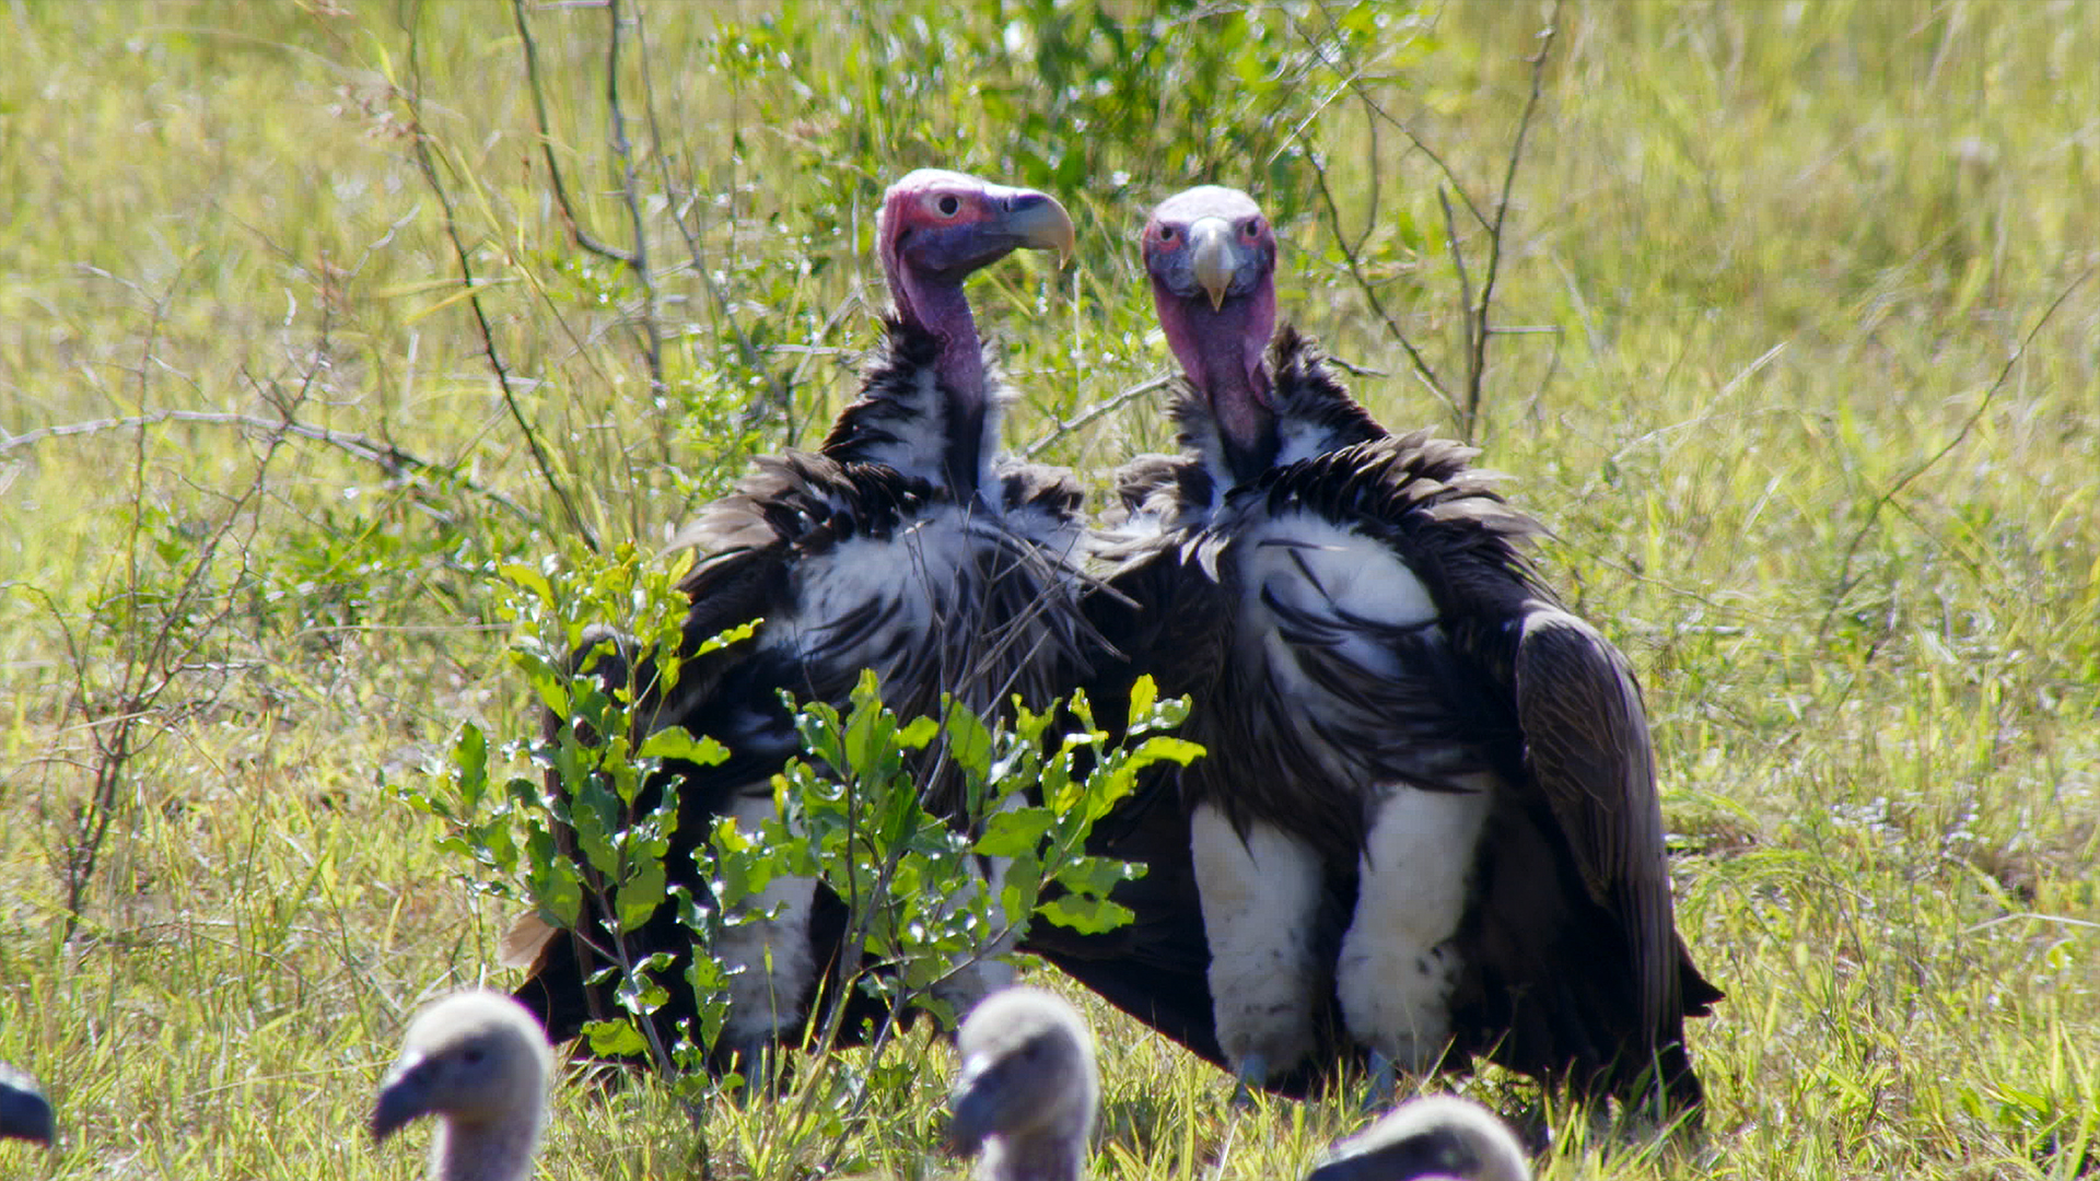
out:
M510 983L510 914L395 788L531 725L494 569L813 441L888 179L1073 210L1073 267L972 292L1008 439L1098 481L1168 441L1157 395L1086 414L1168 364L1134 240L1199 181L1388 424L1464 429L1518 126L1472 435L1642 672L1730 994L1701 1149L1567 1118L1546 1175L2100 1170L2094 11L951 8L622 4L611 101L605 11L533 6L542 153L504 4L0 6L0 1059L63 1126L0 1177L416 1175L365 1101L407 1011ZM1088 1013L1096 1175L1294 1177L1361 1122ZM542 1175L951 1168L949 1065L704 1131L565 1086Z

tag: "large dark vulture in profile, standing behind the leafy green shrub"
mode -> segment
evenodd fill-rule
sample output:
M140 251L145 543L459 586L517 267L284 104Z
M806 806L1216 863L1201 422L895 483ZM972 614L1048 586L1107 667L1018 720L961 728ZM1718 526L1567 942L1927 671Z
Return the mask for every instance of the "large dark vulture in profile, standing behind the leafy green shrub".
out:
M1014 693L1031 702L1077 683L1098 637L1079 609L1084 490L1069 473L998 456L1002 382L985 357L964 279L1016 248L1069 254L1073 225L1046 193L945 170L918 170L882 202L878 252L892 311L859 399L815 454L760 458L739 488L706 506L680 538L699 557L680 582L691 599L682 668L655 685L655 660L611 633L586 639L607 685L643 691L636 725L682 725L729 748L714 767L672 765L651 784L678 794L670 880L706 899L691 853L718 817L775 815L773 775L802 754L781 691L844 706L874 668L899 717L937 714L943 693L981 717ZM699 654L710 637L762 618L752 639ZM548 725L559 725L548 719ZM939 744L934 744L939 746ZM914 765L928 811L964 822L964 782L928 748ZM550 782L548 790L559 790ZM645 792L643 807L657 796ZM993 866L998 874L1000 866ZM729 927L712 954L731 969L716 1061L756 1061L798 1044L817 1000L836 998L861 965L844 950L846 908L811 878L773 880L756 899L771 918ZM613 1011L601 979L605 927L586 902L575 931L527 918L506 956L531 962L517 998L556 1040ZM682 965L691 935L670 906L628 933L638 956L666 954L666 1040L691 1017ZM1004 962L968 965L937 986L956 1013L1012 981ZM853 1034L880 1009L846 998Z

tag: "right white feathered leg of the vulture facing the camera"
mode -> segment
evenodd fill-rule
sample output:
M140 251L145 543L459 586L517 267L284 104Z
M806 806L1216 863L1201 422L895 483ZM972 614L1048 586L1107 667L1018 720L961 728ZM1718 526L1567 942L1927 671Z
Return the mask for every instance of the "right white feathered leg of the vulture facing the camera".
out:
M1493 801L1487 775L1472 792L1386 794L1359 857L1357 916L1342 937L1336 992L1350 1034L1384 1061L1424 1074L1451 1040L1451 992L1466 916L1470 855ZM1373 1059L1376 1061L1376 1059Z

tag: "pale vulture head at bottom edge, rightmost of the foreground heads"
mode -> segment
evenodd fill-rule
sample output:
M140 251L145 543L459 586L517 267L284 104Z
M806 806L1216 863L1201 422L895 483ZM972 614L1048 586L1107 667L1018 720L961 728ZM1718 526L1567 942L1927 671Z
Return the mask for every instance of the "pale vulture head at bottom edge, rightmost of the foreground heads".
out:
M1331 1149L1306 1181L1531 1181L1525 1147L1493 1112L1457 1095L1409 1099Z

